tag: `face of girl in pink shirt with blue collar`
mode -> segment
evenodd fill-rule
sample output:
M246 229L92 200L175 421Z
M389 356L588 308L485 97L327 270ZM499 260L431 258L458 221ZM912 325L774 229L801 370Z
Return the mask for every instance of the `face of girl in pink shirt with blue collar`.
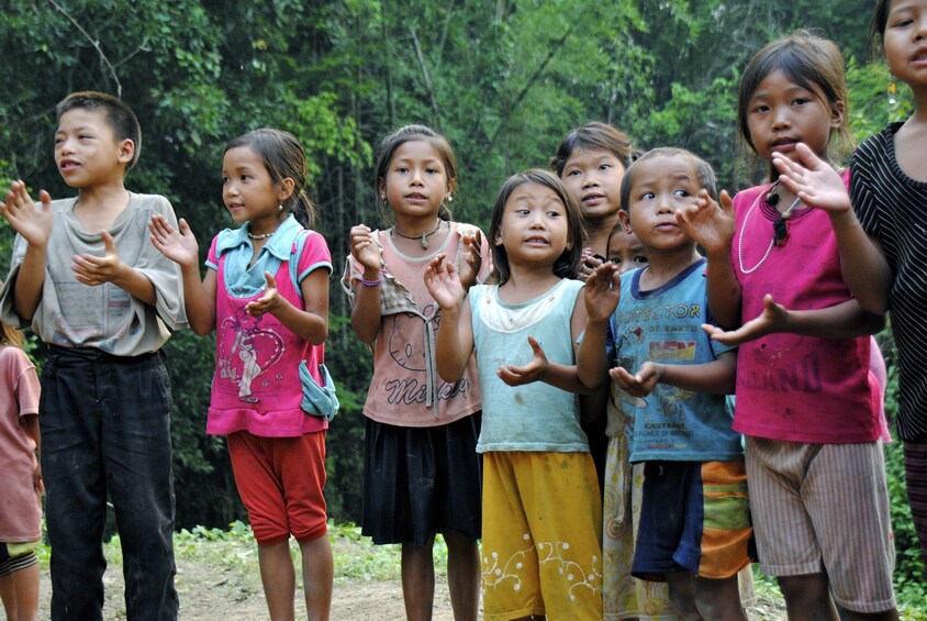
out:
M289 192L273 182L264 160L249 146L236 146L222 157L222 200L232 220L250 222L256 233L273 231L281 220L279 206Z

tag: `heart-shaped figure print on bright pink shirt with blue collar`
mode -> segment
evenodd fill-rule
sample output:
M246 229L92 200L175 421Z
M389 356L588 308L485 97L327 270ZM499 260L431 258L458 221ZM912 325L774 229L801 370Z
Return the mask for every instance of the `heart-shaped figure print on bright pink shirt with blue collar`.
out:
M242 307L220 325L219 376L237 384L238 398L246 403L259 402L252 389L254 381L283 355L283 339L273 330L260 328L261 319Z

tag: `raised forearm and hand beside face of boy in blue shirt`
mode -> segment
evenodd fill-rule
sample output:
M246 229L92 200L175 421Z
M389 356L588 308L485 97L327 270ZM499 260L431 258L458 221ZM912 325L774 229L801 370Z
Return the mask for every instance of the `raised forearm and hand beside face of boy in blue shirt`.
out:
M740 325L740 284L734 274L730 244L734 240L734 201L721 192L721 204L708 192L699 193L696 204L678 211L682 230L704 249L707 262L708 307L714 318L727 328Z

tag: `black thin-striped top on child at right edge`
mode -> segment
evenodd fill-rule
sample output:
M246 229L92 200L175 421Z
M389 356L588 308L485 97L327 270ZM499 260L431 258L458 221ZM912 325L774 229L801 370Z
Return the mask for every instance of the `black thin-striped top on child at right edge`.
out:
M893 123L853 154L850 193L867 233L892 268L889 312L901 363L898 433L927 441L927 181L905 175L895 158Z

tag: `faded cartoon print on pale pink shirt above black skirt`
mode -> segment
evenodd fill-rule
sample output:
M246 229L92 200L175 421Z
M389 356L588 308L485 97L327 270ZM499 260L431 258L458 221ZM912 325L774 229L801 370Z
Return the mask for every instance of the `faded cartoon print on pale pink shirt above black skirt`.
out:
M434 325L434 330L437 331L440 323L440 315L433 317L432 313L434 312L435 304L428 304L423 310L425 317L432 318L429 321ZM388 343L390 357L405 370L413 372L416 375L421 374L421 379L403 378L388 380L384 384L387 392L389 392L387 401L390 404L426 403L428 400L428 369L426 368L429 358L429 352L426 352L428 328L427 325L425 328L425 339L420 340L415 331L412 330L412 324L424 321L422 317L405 312L389 315L389 320L391 322ZM410 339L410 335L415 336ZM470 380L461 377L455 384L450 384L437 377L437 386L435 388L435 400L446 401L458 395L462 395L466 398L470 389Z

